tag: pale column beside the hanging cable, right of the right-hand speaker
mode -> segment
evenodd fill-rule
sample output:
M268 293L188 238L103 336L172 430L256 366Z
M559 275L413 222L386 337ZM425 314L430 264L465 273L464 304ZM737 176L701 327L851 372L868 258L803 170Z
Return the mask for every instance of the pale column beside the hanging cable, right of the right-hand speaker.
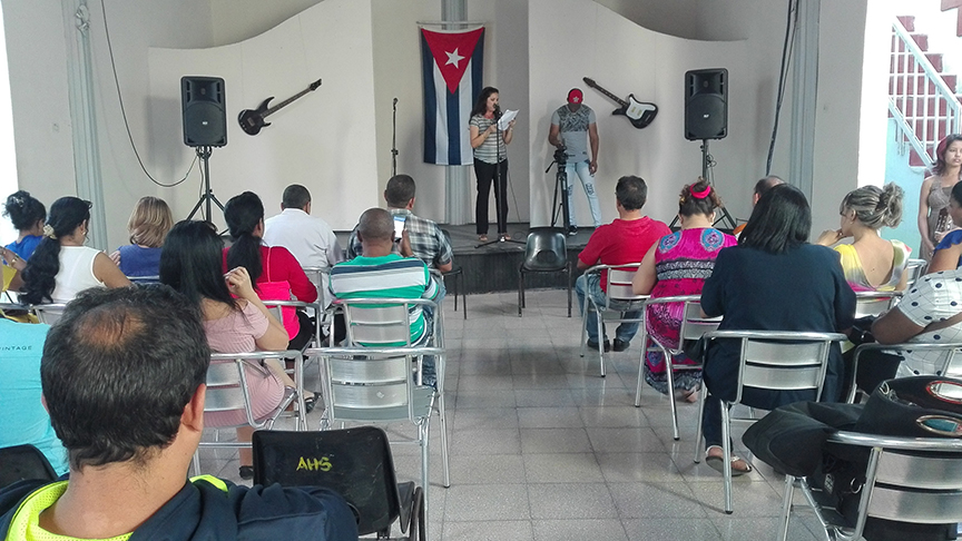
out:
M792 77L792 146L788 180L812 204L818 90L818 11L822 0L798 0Z

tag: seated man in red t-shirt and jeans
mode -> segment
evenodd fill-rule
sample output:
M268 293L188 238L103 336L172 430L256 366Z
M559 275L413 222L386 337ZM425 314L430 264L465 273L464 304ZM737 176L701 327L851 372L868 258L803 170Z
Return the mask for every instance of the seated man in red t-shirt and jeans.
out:
M640 263L655 243L671 233L662 222L641 215L641 207L648 200L648 186L639 177L628 176L618 179L615 188L618 219L595 229L588 246L578 254L578 268L593 265L621 265ZM591 295L598 304L605 304L607 273L581 275L575 282L578 304L585 311L585 295ZM626 317L638 317L639 312L627 312ZM598 348L598 323L592 312L588 316L588 347ZM638 323L622 323L615 332L615 351L624 352L638 332ZM605 336L605 351L611 345Z

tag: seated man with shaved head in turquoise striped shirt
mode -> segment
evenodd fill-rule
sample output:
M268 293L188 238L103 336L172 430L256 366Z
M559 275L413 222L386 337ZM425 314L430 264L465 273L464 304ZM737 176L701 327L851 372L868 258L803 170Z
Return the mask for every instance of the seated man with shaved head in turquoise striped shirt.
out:
M369 208L357 224L361 255L334 265L331 269L331 292L340 299L353 298L428 298L436 301L438 283L431 279L428 266L413 256L408 233L401 242L401 254L394 254L394 218L382 208ZM426 316L426 317L425 317ZM411 343L431 337L433 314L412 305L408 315ZM362 344L364 345L364 344ZM391 345L391 344L387 344ZM403 343L393 344L395 346ZM422 381L434 386L436 374L433 357L424 357Z

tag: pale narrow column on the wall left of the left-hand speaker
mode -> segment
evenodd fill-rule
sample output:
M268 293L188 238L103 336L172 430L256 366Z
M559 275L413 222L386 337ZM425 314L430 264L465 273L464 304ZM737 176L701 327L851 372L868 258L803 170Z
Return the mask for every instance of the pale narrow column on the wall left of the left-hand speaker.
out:
M97 248L107 249L106 203L100 176L97 114L94 107L90 11L87 0L62 1L77 196L94 204L90 209L90 243Z

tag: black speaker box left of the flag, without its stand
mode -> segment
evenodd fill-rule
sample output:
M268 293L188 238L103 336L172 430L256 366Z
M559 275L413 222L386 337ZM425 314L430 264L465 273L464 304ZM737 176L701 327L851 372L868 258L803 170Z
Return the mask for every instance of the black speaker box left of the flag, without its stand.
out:
M184 112L184 145L223 147L227 145L227 111L224 79L219 77L180 78L180 107Z

